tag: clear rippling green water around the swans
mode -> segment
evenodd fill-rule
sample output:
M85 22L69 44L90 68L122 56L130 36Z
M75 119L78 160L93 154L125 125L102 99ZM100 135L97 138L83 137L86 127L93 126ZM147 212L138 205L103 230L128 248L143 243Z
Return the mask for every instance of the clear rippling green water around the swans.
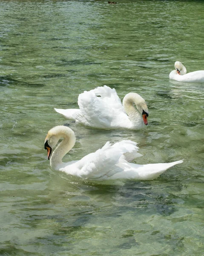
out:
M202 1L1 1L0 254L203 256ZM199 19L198 19L199 17ZM55 113L106 84L149 107L141 131L103 131ZM107 140L139 143L137 163L184 158L156 180L90 183L53 171L47 131L69 123L77 160Z

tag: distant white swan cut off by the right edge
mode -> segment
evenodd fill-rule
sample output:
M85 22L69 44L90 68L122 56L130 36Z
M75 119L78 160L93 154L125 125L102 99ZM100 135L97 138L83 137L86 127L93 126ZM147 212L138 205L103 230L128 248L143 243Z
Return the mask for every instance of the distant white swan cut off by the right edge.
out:
M174 64L175 70L169 75L169 78L179 82L191 82L202 83L204 82L204 70L197 70L187 73L186 68L180 61L176 61Z

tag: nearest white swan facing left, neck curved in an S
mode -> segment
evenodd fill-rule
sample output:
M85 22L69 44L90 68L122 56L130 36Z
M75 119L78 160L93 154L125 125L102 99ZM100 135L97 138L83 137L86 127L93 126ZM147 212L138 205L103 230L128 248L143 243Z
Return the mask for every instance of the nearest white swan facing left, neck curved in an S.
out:
M63 140L57 145L62 137ZM122 140L113 145L107 142L102 148L78 161L63 163L63 156L72 149L75 141L74 131L67 126L58 125L49 130L44 148L48 151L48 159L50 159L52 169L88 180L152 180L168 168L183 162L183 160L179 160L172 163L145 165L129 163L135 157L142 155L138 153L137 143L131 140ZM52 153L52 148L55 145L57 148Z

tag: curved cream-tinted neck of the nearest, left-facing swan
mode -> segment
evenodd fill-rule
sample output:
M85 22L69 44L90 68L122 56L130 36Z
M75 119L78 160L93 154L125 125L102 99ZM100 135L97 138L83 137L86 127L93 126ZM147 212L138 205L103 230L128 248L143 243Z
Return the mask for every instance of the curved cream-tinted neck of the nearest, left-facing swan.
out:
M74 132L66 126L58 126L55 137L57 137L58 140L63 137L63 140L57 145L57 148L55 148L52 153L50 166L53 169L57 169L57 166L63 163L62 158L73 148L76 142Z

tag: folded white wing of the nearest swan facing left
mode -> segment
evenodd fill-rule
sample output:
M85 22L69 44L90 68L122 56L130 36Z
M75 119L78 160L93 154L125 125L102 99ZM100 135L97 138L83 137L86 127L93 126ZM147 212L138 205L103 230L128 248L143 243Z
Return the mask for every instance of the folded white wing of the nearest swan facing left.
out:
M130 140L123 140L120 143L111 145L107 142L103 148L98 149L83 157L76 163L78 176L92 180L107 180L118 172L123 172L121 166L126 161L126 154L129 153L131 158L138 151L137 143ZM128 155L128 160L130 159Z

